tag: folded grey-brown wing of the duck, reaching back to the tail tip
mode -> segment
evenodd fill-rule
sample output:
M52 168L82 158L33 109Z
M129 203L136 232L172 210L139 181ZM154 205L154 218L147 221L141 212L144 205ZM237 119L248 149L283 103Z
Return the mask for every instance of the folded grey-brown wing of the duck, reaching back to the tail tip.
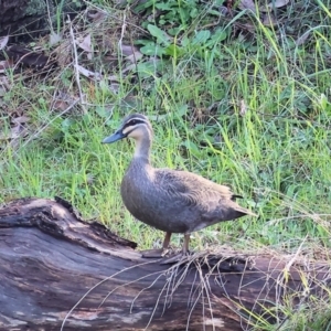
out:
M256 216L234 201L236 196L229 188L192 172L158 169L154 180L162 200L186 220L186 232L244 215Z

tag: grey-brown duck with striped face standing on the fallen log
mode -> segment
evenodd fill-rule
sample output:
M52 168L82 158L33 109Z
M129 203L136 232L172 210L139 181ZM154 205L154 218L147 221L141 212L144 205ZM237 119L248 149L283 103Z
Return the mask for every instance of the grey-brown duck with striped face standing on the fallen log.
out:
M125 138L135 140L136 148L120 184L122 202L135 218L166 233L162 247L143 250L142 257L163 257L173 233L184 235L181 254L188 255L193 232L246 215L257 216L237 204L236 197L242 196L226 185L189 171L153 168L153 129L147 116L127 116L103 143Z

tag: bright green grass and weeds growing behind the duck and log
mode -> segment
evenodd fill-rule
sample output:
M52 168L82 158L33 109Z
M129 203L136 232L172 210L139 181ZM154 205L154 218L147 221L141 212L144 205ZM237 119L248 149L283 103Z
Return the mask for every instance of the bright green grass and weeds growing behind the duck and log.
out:
M28 83L26 73L9 72L1 136L11 136L14 114L29 120L26 136L0 140L0 202L60 195L85 218L97 217L140 248L159 245L162 234L132 220L120 200L131 143L100 143L126 114L141 111L153 124L156 167L229 184L244 196L241 203L259 214L205 228L192 236L193 246L288 253L301 247L310 257L330 249L331 1L296 2L270 9L271 26L260 11L253 14L236 3L233 17L193 0L147 1L134 9L139 17L104 8L111 14L103 28L90 24L99 52L88 65L118 82L111 89L106 78L81 75L86 104L67 111L52 99L58 100L60 92L78 95L73 64ZM139 24L145 33L135 28ZM102 46L107 33L117 53L111 65ZM142 53L130 71L119 52L121 38ZM330 306L321 306L320 318L298 311L281 330L331 330Z

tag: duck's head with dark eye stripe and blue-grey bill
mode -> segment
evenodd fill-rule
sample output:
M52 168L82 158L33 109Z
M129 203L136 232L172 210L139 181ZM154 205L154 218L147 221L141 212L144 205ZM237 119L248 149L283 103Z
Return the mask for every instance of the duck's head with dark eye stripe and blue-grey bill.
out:
M111 143L124 138L132 138L141 141L143 138L151 139L152 127L148 118L142 114L132 114L126 117L115 134L105 138L103 143Z

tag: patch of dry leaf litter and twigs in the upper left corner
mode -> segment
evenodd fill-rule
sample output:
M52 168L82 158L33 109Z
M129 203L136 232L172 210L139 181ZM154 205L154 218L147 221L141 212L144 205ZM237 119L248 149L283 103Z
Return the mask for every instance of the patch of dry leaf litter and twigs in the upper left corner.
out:
M131 25L132 22L135 19L130 18ZM82 12L72 22L66 21L60 33L51 32L49 36L38 40L33 49L8 46L9 38L0 39L0 50L6 57L0 61L0 116L1 121L9 118L7 126L1 125L0 140L22 139L29 134L29 126L33 126L29 115L30 103L20 103L20 115L10 110L7 94L15 83L23 83L24 88L31 92L31 98L42 98L50 111L63 115L66 109L79 114L78 109L87 105L86 96L79 88L82 84L107 82L109 90L118 94L119 77L124 79L132 75L137 63L143 57L132 44L132 34L137 32L132 32L132 28L128 32L121 30L124 23L129 24L124 21L122 12L108 14L94 8ZM9 70L14 73L13 79L10 79ZM65 73L68 73L67 77ZM39 92L32 93L39 84L47 82L52 86L55 83L53 93L44 93L42 97ZM135 95L127 95L126 98L132 99Z

